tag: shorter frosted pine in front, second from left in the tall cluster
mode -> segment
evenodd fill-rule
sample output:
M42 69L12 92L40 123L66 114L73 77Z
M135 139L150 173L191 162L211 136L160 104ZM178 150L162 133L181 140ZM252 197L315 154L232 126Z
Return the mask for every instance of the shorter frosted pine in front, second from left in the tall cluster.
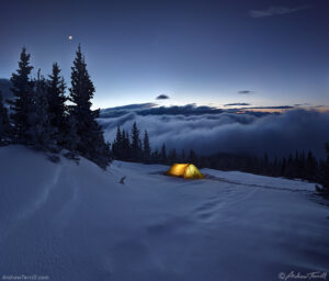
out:
M49 108L47 99L47 82L41 76L41 70L37 71L37 79L35 80L35 89L32 103L29 109L29 139L31 144L37 149L54 149L54 128L49 123Z

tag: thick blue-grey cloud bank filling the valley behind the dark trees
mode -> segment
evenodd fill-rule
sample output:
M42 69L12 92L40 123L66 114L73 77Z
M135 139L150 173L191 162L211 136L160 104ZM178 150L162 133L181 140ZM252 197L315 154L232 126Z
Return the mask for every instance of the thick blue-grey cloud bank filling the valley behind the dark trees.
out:
M147 109L150 110L150 109ZM156 109L152 109L156 110ZM229 112L204 114L138 114L132 111L116 117L99 120L105 138L113 142L116 126L131 130L137 122L141 133L147 130L152 148L166 143L179 150L193 148L202 155L215 153L283 156L311 149L324 157L329 140L329 113L291 110L283 114L252 115Z

